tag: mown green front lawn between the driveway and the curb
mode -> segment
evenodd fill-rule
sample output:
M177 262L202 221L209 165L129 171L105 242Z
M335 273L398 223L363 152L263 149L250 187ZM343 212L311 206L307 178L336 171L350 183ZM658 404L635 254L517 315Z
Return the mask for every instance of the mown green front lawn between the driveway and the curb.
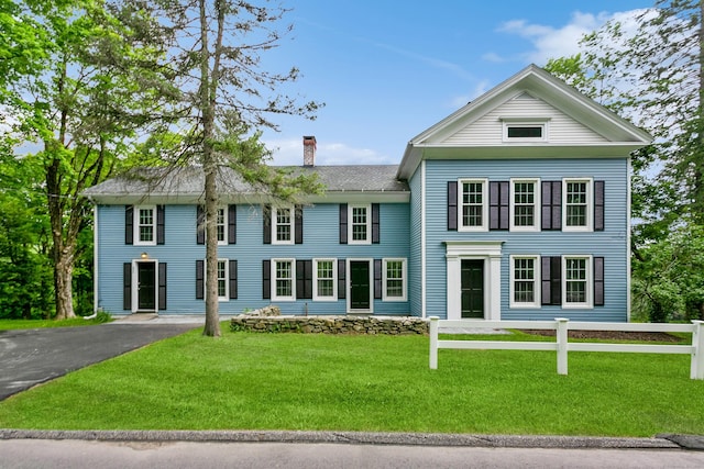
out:
M572 353L558 376L550 351L440 350L430 370L428 337L222 328L12 397L0 427L704 434L704 381L689 379L689 356Z

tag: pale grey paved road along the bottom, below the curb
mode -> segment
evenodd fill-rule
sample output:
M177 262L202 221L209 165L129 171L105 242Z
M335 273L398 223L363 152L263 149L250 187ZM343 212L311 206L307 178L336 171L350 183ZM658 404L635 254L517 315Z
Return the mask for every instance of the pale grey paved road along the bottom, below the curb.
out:
M682 449L477 448L301 443L0 440L2 469L696 468Z

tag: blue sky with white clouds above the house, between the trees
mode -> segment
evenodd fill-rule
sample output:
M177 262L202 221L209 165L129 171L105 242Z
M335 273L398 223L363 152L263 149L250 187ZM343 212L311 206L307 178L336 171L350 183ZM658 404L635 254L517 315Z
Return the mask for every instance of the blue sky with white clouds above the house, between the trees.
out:
M649 0L284 0L294 32L262 66L296 66L296 93L326 107L316 121L277 118L274 164L397 164L406 143L528 64L578 52L578 41Z

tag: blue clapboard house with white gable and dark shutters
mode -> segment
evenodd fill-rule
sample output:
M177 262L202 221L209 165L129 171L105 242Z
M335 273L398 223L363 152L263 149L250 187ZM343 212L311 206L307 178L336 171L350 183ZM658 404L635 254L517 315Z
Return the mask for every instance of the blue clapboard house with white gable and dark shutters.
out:
M411 138L399 165L304 165L278 204L222 171L220 312L629 319L629 154L651 136L529 66ZM147 169L146 171L158 171ZM96 309L205 314L204 176L114 178L95 202Z

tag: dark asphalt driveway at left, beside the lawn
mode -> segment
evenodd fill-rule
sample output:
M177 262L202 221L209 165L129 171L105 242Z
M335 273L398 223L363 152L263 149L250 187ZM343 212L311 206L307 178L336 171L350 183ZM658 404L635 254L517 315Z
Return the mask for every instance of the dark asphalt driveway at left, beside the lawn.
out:
M0 401L198 324L100 324L0 331Z

